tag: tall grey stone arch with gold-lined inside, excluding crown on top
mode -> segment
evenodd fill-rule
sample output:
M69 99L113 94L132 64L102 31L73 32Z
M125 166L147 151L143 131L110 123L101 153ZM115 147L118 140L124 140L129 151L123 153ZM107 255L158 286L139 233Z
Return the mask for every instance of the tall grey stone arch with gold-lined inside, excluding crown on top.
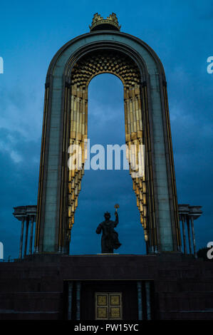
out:
M156 53L118 26L94 24L53 57L46 76L38 186L36 252L65 252L78 205L83 169L68 170L68 147L85 153L88 84L99 73L123 82L125 139L145 145L145 175L133 189L148 252L180 251L180 225L165 72ZM138 152L137 152L138 154ZM142 154L142 153L141 153ZM138 156L138 155L137 155ZM140 156L140 155L139 155ZM130 168L130 173L131 173ZM131 173L132 174L132 173ZM132 175L133 176L133 175Z

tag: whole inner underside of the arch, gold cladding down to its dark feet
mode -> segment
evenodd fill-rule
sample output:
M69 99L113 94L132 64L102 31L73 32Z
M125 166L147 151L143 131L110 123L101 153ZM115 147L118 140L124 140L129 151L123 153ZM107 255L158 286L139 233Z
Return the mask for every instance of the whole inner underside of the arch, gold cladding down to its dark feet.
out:
M147 169L143 168L145 162L149 161L147 148L145 148L145 152L142 148L142 145L148 145L147 131L143 128L145 120L142 120L142 114L145 113L146 109L146 87L142 87L142 90L140 88L142 81L140 71L133 59L119 51L99 50L83 56L73 64L71 86L66 88L65 109L68 108L68 122L66 122L67 129L63 138L64 150L68 146L73 147L74 145L76 148L80 147L82 153L74 170L63 169L64 182L61 192L65 201L61 204L61 213L66 212L66 216L61 217L59 243L61 242L61 247L66 245L67 252L74 215L78 206L84 163L87 158L85 144L88 138L88 85L91 79L100 73L112 73L123 82L126 156L133 179L133 190L137 198L145 241L150 245L157 244L156 232L153 227L155 217L151 214L149 216L147 211L147 189L151 190L152 187L147 185L147 180L150 178L146 177L145 170L147 171ZM72 154L66 155L66 161L71 162L72 157ZM151 200L150 194L148 197ZM151 208L150 205L148 207Z

